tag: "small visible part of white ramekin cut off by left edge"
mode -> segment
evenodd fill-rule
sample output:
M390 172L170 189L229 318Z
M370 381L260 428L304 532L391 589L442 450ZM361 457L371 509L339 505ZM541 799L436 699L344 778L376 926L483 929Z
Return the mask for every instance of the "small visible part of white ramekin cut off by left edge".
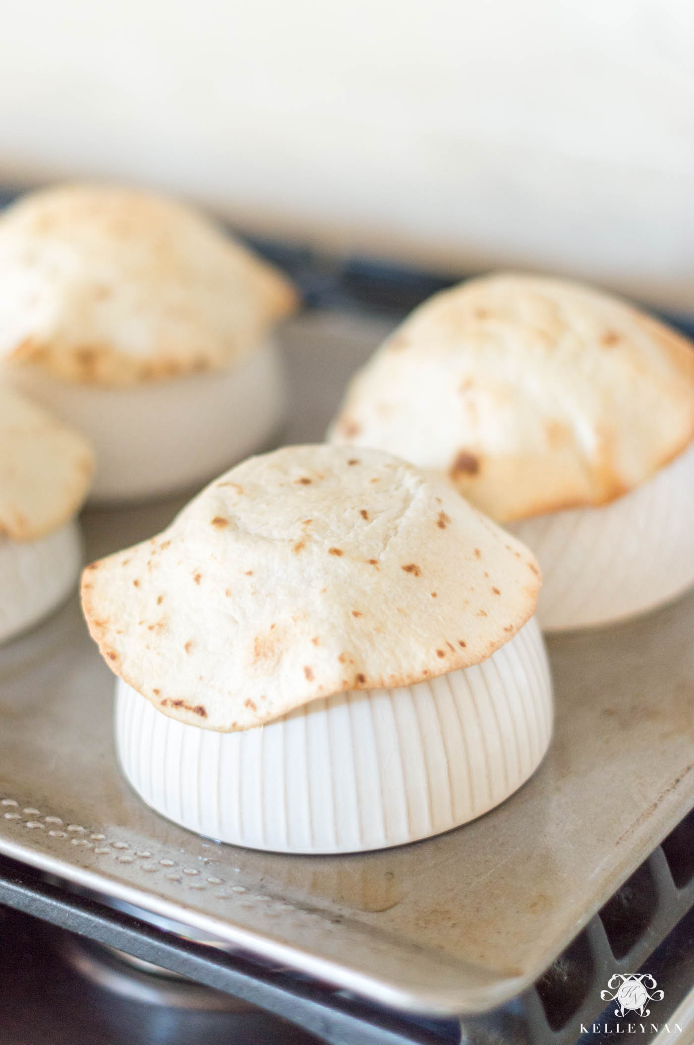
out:
M59 606L77 583L81 561L74 520L40 540L0 537L0 643Z

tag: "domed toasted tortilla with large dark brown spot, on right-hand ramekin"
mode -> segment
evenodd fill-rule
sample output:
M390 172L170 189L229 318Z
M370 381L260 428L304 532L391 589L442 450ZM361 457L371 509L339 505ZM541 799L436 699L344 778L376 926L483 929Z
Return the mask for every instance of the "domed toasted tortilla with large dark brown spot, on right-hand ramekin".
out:
M349 388L330 438L447 475L498 521L597 506L694 437L694 351L598 291L472 280L425 302Z

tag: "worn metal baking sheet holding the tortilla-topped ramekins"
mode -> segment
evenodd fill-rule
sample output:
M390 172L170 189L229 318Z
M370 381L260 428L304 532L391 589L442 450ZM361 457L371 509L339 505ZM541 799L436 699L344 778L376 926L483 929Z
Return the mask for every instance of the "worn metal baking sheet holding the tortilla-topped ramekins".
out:
M285 442L322 437L392 319L329 311L285 334ZM181 504L83 516L94 557ZM113 676L76 599L0 650L0 852L402 1009L490 1008L531 983L694 805L694 595L550 642L556 734L503 806L382 853L289 857L207 841L129 790Z

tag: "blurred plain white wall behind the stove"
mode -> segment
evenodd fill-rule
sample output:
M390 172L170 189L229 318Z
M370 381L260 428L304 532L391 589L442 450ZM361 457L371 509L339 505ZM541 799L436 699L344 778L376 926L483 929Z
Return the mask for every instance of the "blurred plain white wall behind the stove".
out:
M693 0L5 0L0 178L694 310Z

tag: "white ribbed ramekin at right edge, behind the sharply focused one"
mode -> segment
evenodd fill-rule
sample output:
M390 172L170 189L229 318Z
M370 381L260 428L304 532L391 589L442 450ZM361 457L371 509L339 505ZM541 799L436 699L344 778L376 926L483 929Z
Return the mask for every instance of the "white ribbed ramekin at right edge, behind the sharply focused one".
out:
M694 584L693 518L694 443L608 505L506 524L542 567L543 630L606 624L681 595Z

